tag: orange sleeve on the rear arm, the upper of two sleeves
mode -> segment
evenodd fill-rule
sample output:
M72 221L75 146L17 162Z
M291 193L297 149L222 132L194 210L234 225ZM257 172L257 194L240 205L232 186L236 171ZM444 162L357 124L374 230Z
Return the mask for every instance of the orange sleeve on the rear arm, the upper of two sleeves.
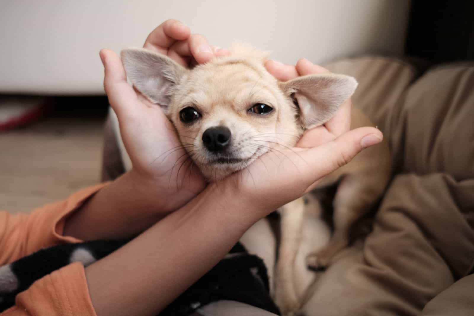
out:
M29 214L12 215L0 211L0 266L44 247L80 242L74 237L62 236L64 221L104 185L83 189L64 201L48 204Z

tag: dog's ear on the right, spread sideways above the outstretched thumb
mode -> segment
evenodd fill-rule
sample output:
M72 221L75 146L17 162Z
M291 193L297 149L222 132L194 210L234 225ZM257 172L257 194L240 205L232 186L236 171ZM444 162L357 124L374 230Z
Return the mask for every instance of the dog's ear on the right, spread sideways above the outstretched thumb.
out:
M300 109L301 125L305 129L326 123L357 88L353 77L338 74L317 74L298 77L280 83Z

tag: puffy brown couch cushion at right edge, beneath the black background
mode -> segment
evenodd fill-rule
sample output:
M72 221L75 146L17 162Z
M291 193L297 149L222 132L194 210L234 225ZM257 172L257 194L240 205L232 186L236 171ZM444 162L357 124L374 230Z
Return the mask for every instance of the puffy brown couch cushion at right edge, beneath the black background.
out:
M474 64L425 73L391 119L393 153L404 172L474 178Z

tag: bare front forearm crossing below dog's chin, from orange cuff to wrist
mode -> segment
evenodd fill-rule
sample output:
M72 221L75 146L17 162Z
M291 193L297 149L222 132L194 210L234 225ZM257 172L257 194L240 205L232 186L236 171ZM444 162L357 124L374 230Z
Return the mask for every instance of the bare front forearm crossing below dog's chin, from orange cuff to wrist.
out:
M86 268L100 315L156 315L228 253L257 219L210 185L118 251ZM139 303L137 303L139 302Z

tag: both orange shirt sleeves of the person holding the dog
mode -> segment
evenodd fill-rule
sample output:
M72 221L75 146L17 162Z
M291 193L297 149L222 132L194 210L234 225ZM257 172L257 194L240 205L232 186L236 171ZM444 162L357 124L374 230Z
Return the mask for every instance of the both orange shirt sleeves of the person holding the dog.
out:
M65 201L48 204L29 214L0 211L0 266L44 247L81 242L63 236L64 221L104 185L83 189ZM97 316L81 263L69 264L36 281L17 295L15 303L0 316Z

